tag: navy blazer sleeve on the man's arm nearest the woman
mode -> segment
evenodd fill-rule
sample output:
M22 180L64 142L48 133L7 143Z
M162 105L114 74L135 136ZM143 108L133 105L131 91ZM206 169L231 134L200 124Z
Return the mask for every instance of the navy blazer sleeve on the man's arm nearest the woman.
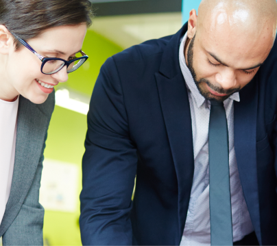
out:
M136 148L114 59L95 83L82 162L80 230L83 245L132 245L130 210Z

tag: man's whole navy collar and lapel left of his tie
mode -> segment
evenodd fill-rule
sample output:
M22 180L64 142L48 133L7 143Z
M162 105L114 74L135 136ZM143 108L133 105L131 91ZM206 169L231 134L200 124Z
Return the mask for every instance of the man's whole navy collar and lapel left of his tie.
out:
M178 219L180 244L193 183L193 136L189 98L179 64L180 39L187 25L176 33L167 44L162 56L159 73L155 74L160 105L167 128L167 135L178 179Z

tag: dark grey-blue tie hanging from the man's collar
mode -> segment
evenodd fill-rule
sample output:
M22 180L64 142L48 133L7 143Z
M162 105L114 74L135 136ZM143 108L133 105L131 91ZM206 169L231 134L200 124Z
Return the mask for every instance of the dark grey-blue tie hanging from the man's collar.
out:
M210 244L232 245L228 125L223 102L210 101Z

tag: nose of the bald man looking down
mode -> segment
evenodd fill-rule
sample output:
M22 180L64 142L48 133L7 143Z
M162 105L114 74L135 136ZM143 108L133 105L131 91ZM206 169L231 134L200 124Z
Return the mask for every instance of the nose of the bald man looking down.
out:
M236 87L237 78L234 70L225 68L223 71L215 75L215 81L221 85L224 90Z

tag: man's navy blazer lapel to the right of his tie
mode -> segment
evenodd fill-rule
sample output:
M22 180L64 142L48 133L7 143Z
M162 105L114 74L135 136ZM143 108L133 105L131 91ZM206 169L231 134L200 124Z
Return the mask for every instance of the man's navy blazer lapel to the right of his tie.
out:
M256 164L256 118L258 108L258 83L256 83L256 80L253 79L239 94L241 102L234 102L234 149L243 193L258 241L261 244Z

